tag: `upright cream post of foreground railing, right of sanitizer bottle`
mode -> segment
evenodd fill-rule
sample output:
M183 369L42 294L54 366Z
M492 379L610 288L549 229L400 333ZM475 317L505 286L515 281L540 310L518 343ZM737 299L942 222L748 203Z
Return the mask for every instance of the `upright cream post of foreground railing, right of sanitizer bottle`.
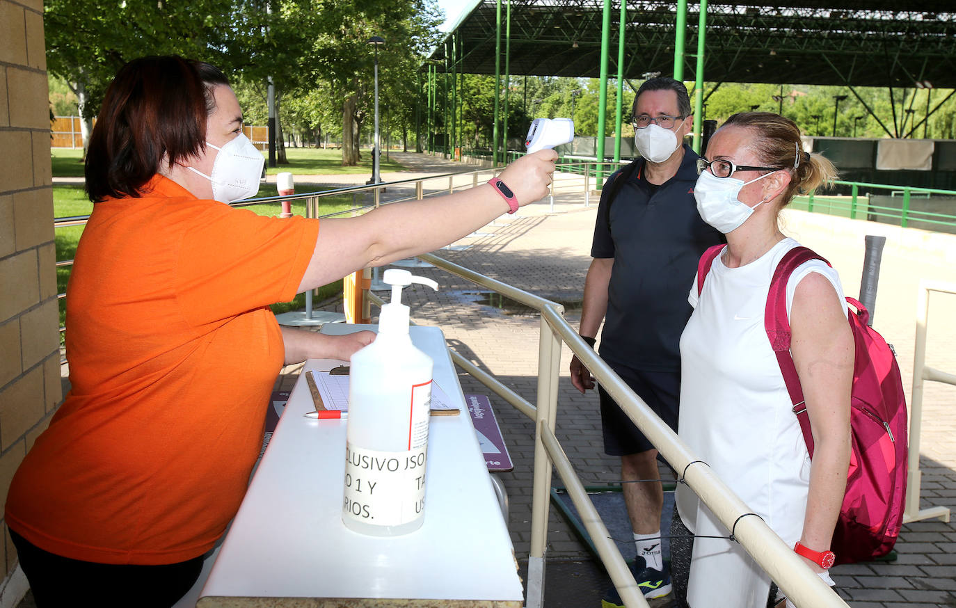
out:
M555 305L560 315L564 307ZM561 366L561 338L548 320L540 319L538 338L537 411L534 419L534 477L532 485L532 545L528 556L527 608L544 606L545 551L548 541L548 509L551 497L551 458L542 443L545 428L557 419L557 379Z

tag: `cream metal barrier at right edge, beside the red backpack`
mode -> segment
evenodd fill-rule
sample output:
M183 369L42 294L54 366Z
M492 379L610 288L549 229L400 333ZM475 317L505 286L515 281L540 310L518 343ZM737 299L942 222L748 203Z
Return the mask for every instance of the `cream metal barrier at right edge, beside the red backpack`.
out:
M913 347L913 392L909 414L909 462L906 477L906 510L903 522L920 521L939 517L949 521L945 507L920 509L920 433L923 429L923 382L944 382L956 386L956 374L950 374L926 365L926 333L929 326L929 293L956 294L956 283L920 281L920 298L916 306L916 343Z

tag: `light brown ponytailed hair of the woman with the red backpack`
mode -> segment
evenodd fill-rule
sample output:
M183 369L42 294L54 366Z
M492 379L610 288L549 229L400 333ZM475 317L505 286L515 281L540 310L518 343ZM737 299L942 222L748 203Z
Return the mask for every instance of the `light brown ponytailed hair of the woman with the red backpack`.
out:
M721 128L726 126L750 129L754 137L748 147L760 161L790 171L790 185L780 198L781 207L789 205L797 192L804 194L836 180L834 163L820 154L803 151L800 127L791 119L772 112L741 112L727 119Z

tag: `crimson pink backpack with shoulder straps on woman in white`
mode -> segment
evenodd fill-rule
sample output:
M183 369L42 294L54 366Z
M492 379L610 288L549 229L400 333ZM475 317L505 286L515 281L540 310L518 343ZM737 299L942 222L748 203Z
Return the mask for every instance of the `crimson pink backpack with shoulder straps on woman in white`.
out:
M706 250L697 267L697 293L713 260L724 245ZM801 264L825 259L805 247L784 255L773 272L764 325L780 364L810 457L814 438L810 417L803 404L803 390L790 355L790 321L787 318L787 280ZM891 346L868 324L870 314L857 300L847 297L857 309L850 316L856 355L850 394L852 449L846 493L836 521L832 551L837 564L866 561L888 554L902 525L906 496L906 400L900 367Z

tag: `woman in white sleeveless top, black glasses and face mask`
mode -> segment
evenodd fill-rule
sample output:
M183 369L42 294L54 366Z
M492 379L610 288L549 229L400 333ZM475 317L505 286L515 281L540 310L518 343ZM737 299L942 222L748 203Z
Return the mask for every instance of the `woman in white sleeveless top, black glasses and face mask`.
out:
M815 554L830 550L846 484L854 359L836 271L816 260L788 283L791 354L815 438L812 463L764 329L764 308L777 262L798 246L777 227L779 210L795 192L832 181L835 170L802 151L792 120L769 113L730 117L699 163L698 210L727 234L728 246L700 297L696 280L690 290L679 435L784 542L815 557L804 561L832 584L825 556ZM679 603L686 589L691 608L767 606L769 576L726 538L728 529L691 489L680 486L676 502L673 528L698 536L692 546L671 543Z

